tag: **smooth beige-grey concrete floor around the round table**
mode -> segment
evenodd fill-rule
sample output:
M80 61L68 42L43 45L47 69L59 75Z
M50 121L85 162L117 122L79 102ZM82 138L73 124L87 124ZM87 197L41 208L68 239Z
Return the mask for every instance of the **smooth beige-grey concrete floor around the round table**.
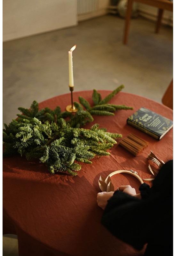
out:
M122 44L123 30L124 19L106 15L3 43L3 124L17 117L18 107L69 93L68 51L75 44L74 91L124 84L123 92L161 103L173 77L173 28L162 26L155 34L155 22L138 17L128 45ZM3 236L4 256L18 255L17 248L15 236Z

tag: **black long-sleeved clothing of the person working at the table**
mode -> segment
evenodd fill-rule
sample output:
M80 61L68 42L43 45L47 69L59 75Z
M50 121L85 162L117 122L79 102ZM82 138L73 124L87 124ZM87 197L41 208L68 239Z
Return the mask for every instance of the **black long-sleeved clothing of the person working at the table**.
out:
M162 169L156 176L154 188L149 189L147 184L140 186L142 199L116 191L108 200L102 216L102 224L114 236L138 250L149 241L158 243L158 246L162 241L166 243L163 231L169 224L165 220L172 218L173 191L165 191L163 184L172 183L173 163L171 166L166 164Z

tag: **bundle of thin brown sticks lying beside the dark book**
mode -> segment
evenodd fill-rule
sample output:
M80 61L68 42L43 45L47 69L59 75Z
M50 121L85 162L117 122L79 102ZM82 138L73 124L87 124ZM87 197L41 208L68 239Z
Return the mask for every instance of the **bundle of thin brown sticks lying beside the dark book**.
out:
M120 140L119 145L131 152L134 156L137 156L144 148L148 146L146 140L130 133L127 137Z

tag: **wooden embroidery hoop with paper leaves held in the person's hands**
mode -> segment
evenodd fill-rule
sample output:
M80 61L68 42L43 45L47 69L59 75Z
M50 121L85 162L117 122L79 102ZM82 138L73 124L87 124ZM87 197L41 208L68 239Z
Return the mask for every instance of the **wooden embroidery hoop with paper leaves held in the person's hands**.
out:
M130 170L130 171L127 171L127 170L118 170L118 171L115 171L115 172L111 172L107 178L104 178L102 176L100 176L100 179L99 179L99 187L101 189L101 191L106 191L106 192L110 192L110 191L114 191L114 185L112 183L112 180L111 180L111 177L117 173L128 173L128 174L131 174L133 175L134 177L136 177L141 184L143 184L143 180L140 178L140 176L138 175L137 172L133 171L133 170Z

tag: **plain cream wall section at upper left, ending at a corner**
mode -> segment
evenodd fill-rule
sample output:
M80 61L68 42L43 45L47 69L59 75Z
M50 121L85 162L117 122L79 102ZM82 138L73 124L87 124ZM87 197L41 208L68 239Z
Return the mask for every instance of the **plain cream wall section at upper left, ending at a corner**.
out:
M77 25L77 0L3 0L3 41Z

